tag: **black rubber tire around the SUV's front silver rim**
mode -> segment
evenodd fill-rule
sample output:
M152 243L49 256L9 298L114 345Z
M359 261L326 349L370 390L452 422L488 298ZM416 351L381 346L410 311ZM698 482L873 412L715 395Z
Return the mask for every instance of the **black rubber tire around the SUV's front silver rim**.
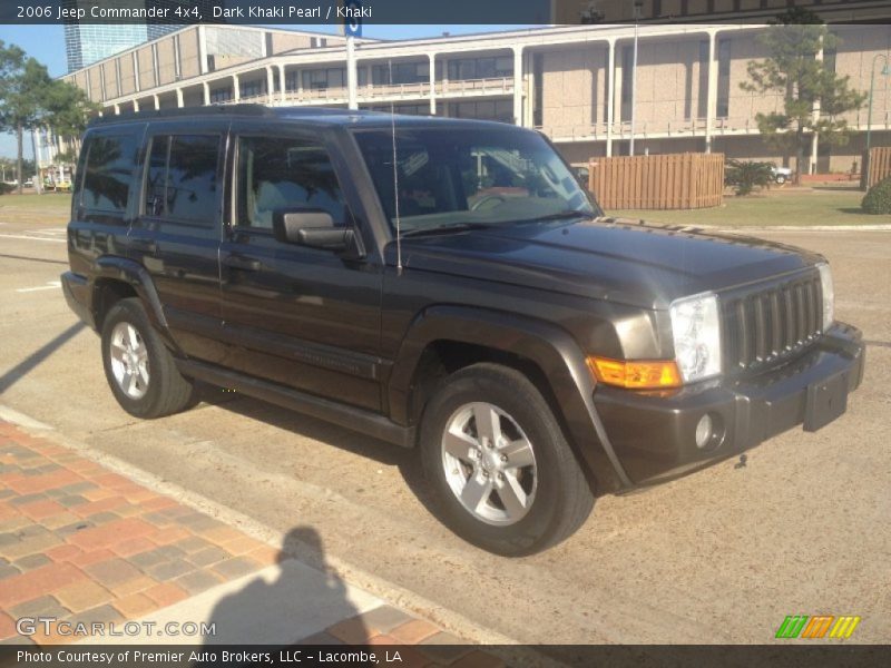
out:
M535 478L533 493L527 497L529 503L526 514L512 521L493 524L480 519L459 500L459 492L451 484L461 484L461 479L479 472L486 482L497 475L505 480L507 472L491 475L480 468L491 465L495 460L478 461L460 469L453 466L458 460L450 460L443 453L446 430L453 424L456 415L467 415L468 404L484 402L502 412L498 424L502 430L521 430L520 436L531 445L535 456L535 473L530 469L522 472L527 480ZM463 411L463 412L462 412ZM507 421L505 420L507 416ZM457 419L459 422L461 418ZM511 424L512 422L512 424ZM482 441L476 428L476 416L470 431L463 434ZM515 430L516 431L516 430ZM453 432L452 432L453 433ZM507 431L503 432L509 439ZM518 439L522 441L522 439ZM502 441L502 443L506 441ZM474 364L448 376L424 409L420 430L421 460L424 475L434 497L441 521L464 540L490 552L506 557L521 557L540 552L565 540L585 522L594 507L594 494L585 478L562 430L551 413L547 401L535 385L520 372L498 364ZM474 448L471 446L471 450ZM482 449L476 452L484 452ZM498 452L498 450L489 450ZM473 458L471 458L473 459ZM481 459L486 459L484 456ZM507 466L507 464L505 464ZM447 473L448 472L448 473ZM447 475L449 475L447 478ZM531 477L531 478L530 478ZM449 482L451 479L452 483ZM479 479L478 479L479 480ZM503 487L503 482L500 483ZM528 484L528 483L527 483ZM492 488L498 492L498 488ZM500 494L486 495L484 512L508 512ZM472 503L471 503L472 504ZM491 507L495 508L491 508ZM499 509L500 507L500 509ZM477 505L479 509L479 505ZM491 518L490 518L491 521Z

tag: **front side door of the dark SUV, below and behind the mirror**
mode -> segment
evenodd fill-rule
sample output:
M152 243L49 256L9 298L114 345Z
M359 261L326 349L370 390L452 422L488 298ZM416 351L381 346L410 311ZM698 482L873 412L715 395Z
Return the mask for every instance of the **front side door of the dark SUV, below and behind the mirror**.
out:
M276 209L315 208L355 225L325 143L233 128L234 199L221 247L226 365L380 410L380 264L283 243Z

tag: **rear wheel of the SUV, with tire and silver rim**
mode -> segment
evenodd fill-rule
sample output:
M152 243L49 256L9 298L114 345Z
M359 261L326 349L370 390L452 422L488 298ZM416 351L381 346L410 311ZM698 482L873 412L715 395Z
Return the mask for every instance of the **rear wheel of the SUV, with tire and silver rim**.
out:
M130 415L160 418L197 403L195 387L176 369L137 298L121 299L108 312L102 364L115 399Z

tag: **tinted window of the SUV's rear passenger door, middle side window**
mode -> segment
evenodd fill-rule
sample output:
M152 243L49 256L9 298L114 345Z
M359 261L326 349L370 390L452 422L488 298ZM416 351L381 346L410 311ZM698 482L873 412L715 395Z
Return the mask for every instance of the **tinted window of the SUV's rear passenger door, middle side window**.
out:
M145 214L213 226L219 135L164 135L151 140Z

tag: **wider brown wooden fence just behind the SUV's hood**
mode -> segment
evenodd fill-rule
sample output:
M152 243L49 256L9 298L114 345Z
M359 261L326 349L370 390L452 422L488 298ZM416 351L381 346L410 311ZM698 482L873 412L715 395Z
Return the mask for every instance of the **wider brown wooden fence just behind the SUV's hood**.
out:
M588 187L605 209L721 206L724 154L591 158Z

